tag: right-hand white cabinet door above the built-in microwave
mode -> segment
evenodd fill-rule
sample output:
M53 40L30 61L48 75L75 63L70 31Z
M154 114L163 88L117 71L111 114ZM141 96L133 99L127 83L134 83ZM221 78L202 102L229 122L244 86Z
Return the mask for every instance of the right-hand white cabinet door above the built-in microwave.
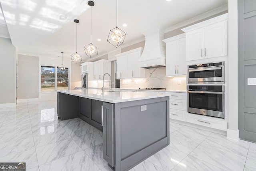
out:
M227 55L227 21L204 28L204 58Z

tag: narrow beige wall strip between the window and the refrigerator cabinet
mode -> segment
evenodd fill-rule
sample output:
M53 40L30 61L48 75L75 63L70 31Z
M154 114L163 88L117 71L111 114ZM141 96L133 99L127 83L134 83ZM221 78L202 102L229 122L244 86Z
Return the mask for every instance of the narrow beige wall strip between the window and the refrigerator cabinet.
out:
M76 64L71 62L71 87L70 89L74 89L75 87L81 87L81 72L80 72L80 64Z

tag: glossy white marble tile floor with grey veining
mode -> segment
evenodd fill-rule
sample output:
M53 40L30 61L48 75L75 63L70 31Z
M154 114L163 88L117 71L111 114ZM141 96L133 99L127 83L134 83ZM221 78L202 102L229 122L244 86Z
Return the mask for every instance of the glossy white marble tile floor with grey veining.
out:
M79 118L60 121L56 101L0 108L0 162L27 171L112 171L102 132ZM170 122L170 145L130 171L256 171L256 143Z

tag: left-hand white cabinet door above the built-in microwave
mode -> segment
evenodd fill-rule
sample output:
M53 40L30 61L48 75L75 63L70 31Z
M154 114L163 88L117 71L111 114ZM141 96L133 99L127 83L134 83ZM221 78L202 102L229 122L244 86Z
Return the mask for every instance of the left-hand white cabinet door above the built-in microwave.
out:
M186 33L186 60L204 59L204 28Z

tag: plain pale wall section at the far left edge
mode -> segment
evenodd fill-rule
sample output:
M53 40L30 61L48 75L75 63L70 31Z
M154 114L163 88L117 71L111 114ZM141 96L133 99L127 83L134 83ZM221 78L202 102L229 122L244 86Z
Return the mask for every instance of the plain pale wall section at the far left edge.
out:
M16 48L0 38L0 104L16 103Z

